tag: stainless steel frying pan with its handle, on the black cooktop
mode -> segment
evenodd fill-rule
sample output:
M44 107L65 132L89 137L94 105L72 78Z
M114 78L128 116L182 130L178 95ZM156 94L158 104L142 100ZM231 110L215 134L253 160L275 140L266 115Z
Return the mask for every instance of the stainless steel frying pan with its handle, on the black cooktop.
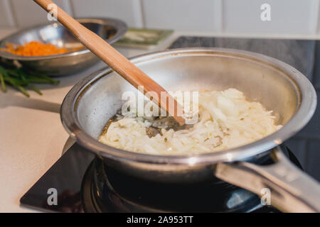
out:
M274 111L283 127L254 143L203 155L144 155L112 148L97 138L120 109L122 93L134 88L107 68L82 79L63 101L63 125L80 145L128 175L190 183L218 177L260 196L269 189L271 204L281 211L320 211L319 183L294 167L278 147L314 114L316 92L303 74L272 57L216 48L156 52L132 62L169 91L239 89ZM266 153L272 153L275 164L254 164Z

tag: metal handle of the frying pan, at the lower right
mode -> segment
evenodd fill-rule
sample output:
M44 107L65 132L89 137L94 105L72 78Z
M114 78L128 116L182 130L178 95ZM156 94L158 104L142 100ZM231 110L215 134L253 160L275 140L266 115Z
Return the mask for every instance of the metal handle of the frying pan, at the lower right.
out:
M249 190L283 212L320 212L320 184L290 162L279 147L272 150L277 162L255 165L249 162L220 162L215 176ZM264 200L265 201L265 200ZM268 201L268 200L267 200ZM266 201L265 201L266 202Z

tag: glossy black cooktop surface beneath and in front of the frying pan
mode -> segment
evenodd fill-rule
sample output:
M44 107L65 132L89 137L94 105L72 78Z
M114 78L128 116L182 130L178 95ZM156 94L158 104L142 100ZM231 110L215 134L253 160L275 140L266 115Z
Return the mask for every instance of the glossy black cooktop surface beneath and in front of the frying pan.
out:
M284 150L301 167L293 153ZM129 177L106 167L77 143L22 196L21 205L73 213L279 212L262 206L255 194L225 182L160 185Z

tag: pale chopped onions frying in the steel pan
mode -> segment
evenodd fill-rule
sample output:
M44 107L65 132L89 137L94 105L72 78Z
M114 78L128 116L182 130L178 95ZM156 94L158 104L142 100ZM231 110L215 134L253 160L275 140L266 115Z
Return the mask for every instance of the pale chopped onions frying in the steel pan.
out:
M151 155L212 153L259 140L282 126L272 111L247 101L237 89L199 92L198 122L177 130L173 119L124 117L110 121L100 142L114 148Z

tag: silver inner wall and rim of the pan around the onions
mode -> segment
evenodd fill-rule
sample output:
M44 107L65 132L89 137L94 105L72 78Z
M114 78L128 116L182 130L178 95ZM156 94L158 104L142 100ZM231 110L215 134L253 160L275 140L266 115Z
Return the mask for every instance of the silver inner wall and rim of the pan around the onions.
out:
M78 82L63 101L61 118L78 143L108 160L146 165L206 165L243 160L257 155L297 133L309 121L316 107L316 93L303 74L272 57L241 50L216 48L177 49L134 57L146 74L170 91L223 90L244 92L274 111L276 133L239 148L196 156L155 156L130 153L99 143L108 119L121 107L122 93L135 89L109 68ZM192 161L191 161L192 160ZM134 164L132 164L134 165Z

